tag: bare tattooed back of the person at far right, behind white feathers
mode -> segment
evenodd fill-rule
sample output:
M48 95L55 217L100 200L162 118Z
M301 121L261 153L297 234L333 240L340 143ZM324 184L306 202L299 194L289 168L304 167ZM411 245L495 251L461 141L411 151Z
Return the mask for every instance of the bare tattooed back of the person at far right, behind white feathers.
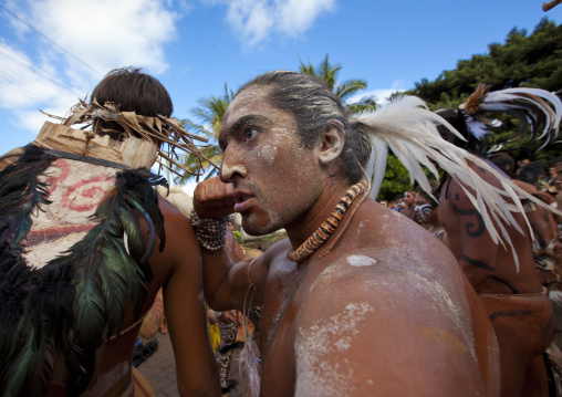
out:
M475 171L501 188L493 176L477 167ZM535 269L525 221L522 215L514 217L524 234L513 226L506 226L506 230L519 264L509 248L492 241L460 186L455 181L445 184L439 219L447 230L452 253L492 320L501 354L502 396L520 393L522 396L541 396L547 393L542 353L552 339L554 322ZM525 378L527 372L529 379Z

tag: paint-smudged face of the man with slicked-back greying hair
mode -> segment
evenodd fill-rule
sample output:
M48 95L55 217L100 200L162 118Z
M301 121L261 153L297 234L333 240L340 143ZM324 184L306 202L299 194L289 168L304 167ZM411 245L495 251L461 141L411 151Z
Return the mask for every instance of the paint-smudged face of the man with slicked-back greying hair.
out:
M230 103L219 140L220 177L231 182L242 227L254 236L287 227L322 194L321 166L303 148L294 117L269 103L269 87L249 87Z

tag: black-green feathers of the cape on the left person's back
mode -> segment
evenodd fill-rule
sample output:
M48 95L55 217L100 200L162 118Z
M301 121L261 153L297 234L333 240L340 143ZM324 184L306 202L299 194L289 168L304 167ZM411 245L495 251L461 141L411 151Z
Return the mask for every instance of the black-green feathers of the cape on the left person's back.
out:
M84 393L110 335L119 333L127 299L138 318L153 278L148 257L164 220L147 169L116 174L115 188L92 219L95 226L43 268L23 258L32 217L51 203L40 176L58 157L34 145L0 173L0 394L43 396L54 355L64 355L67 394ZM138 218L148 224L145 247ZM96 358L97 357L97 358Z

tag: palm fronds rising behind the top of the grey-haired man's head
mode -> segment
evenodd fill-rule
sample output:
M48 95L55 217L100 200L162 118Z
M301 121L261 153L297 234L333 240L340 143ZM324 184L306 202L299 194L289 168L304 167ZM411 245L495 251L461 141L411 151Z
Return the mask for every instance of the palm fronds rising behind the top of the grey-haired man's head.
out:
M310 60L309 64L304 64L301 59L299 59L299 61L301 62L299 72L320 77L335 94L335 96L345 104L345 108L348 113L358 113L365 109L375 109L377 107L376 97L374 96L362 98L356 103L345 103L345 100L347 100L352 94L355 94L361 90L365 90L367 87L367 82L363 79L353 79L339 83L337 74L343 66L339 64L331 64L327 61L327 54L316 67L311 64Z

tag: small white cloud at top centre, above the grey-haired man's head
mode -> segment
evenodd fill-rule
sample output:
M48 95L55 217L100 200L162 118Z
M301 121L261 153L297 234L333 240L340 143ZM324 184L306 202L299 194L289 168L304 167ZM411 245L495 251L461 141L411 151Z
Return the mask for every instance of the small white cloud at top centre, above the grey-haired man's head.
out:
M295 36L310 29L323 12L332 12L336 0L205 0L228 4L227 22L243 45L253 46L272 33Z

